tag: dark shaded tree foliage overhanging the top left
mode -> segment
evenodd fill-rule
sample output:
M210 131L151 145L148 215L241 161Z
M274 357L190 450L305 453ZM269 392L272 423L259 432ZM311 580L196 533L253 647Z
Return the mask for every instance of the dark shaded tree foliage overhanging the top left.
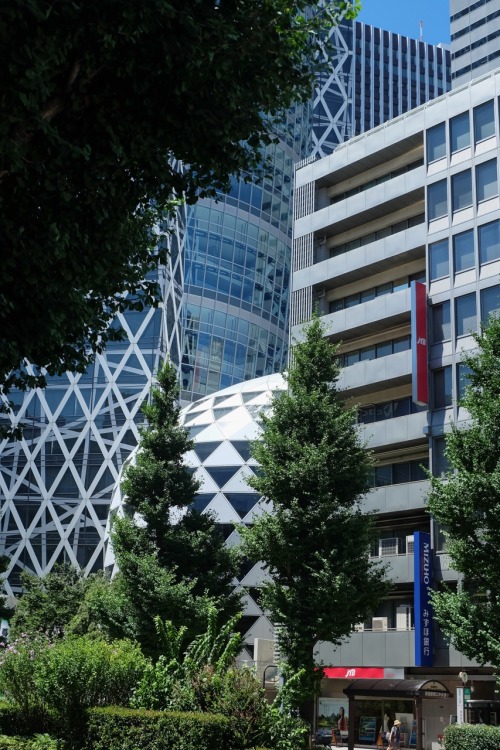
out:
M0 392L83 372L120 336L117 311L157 301L147 272L175 196L262 168L276 121L310 96L316 32L357 10L309 6L3 4Z

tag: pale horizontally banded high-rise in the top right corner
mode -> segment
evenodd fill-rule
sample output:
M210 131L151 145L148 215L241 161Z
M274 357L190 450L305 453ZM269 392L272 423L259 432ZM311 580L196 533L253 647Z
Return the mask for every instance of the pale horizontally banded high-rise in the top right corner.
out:
M452 87L500 65L499 0L450 0Z

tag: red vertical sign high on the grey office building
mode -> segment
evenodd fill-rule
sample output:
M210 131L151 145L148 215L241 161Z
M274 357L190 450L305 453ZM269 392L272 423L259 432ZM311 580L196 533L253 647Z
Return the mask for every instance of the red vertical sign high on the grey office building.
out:
M425 284L411 282L412 399L420 406L429 403L427 353L427 292Z

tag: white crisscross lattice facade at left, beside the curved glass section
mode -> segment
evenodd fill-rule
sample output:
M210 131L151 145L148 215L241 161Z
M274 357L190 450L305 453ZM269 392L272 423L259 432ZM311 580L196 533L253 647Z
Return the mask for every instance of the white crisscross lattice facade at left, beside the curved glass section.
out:
M119 315L126 337L108 344L82 375L49 378L47 388L12 393L23 438L0 443L0 551L11 558L7 593L20 573L57 562L103 567L104 531L120 468L138 442L141 405L167 355L179 364L185 215L158 271L161 305Z

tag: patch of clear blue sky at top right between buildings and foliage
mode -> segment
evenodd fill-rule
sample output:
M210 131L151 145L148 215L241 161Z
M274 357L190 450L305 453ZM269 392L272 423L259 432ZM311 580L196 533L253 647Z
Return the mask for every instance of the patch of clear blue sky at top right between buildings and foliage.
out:
M450 42L449 0L361 0L358 21L418 39L429 44Z

